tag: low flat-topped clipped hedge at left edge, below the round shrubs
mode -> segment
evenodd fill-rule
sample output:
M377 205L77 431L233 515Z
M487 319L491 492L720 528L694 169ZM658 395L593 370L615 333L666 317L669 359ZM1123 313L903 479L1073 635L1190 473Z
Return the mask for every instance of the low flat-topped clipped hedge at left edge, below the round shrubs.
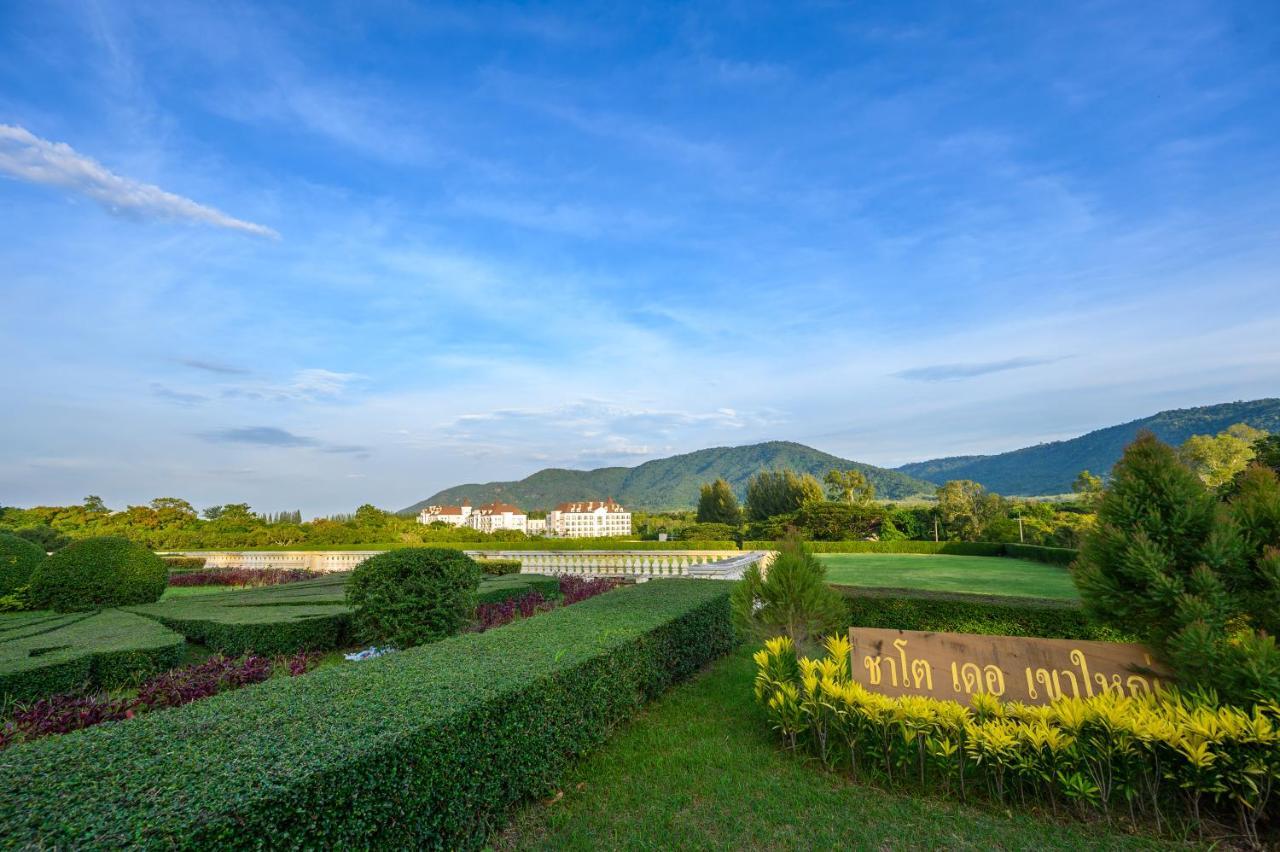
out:
M184 645L182 636L118 609L0 615L0 705L132 686L175 667Z

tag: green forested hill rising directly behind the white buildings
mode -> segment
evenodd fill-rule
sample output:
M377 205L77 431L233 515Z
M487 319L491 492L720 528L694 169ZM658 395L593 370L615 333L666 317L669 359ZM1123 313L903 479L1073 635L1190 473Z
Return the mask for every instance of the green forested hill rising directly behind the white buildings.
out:
M818 478L832 468L856 468L876 485L876 494L882 498L933 493L932 485L906 473L850 462L804 444L769 441L716 446L654 459L637 467L602 467L595 471L547 468L518 482L456 485L402 509L401 514L416 514L433 504L457 505L463 499L470 499L474 505L504 500L524 509L550 509L567 500L612 496L628 509L686 509L698 504L698 487L703 482L724 477L741 498L746 493L748 477L776 467L813 473Z

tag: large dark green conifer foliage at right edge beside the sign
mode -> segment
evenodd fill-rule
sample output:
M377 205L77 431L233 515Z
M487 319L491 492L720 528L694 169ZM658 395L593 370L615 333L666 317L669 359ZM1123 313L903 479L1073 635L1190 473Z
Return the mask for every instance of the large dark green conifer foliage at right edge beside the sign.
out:
M1280 481L1253 468L1228 503L1153 435L1116 464L1076 562L1098 618L1133 629L1179 681L1280 696Z

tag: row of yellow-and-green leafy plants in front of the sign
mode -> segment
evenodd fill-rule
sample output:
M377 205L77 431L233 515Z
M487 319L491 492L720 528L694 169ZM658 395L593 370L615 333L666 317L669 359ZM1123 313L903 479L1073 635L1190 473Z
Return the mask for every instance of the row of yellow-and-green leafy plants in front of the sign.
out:
M977 693L972 706L891 698L850 678L849 638L797 659L786 637L755 655L755 696L792 748L855 778L1055 812L1128 812L1161 829L1213 810L1257 846L1276 815L1280 707L1220 706L1167 693L1103 692L1028 706ZM1189 806L1189 807L1188 807ZM1207 814L1206 814L1207 815ZM1184 828L1184 826L1178 826Z

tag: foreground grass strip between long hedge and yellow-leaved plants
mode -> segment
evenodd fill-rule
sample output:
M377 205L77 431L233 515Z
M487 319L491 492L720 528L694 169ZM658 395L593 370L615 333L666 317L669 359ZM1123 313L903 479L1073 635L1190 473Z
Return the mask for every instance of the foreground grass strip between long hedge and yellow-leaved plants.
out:
M855 784L785 752L754 704L753 647L649 705L575 764L499 849L1167 848L1062 821Z

